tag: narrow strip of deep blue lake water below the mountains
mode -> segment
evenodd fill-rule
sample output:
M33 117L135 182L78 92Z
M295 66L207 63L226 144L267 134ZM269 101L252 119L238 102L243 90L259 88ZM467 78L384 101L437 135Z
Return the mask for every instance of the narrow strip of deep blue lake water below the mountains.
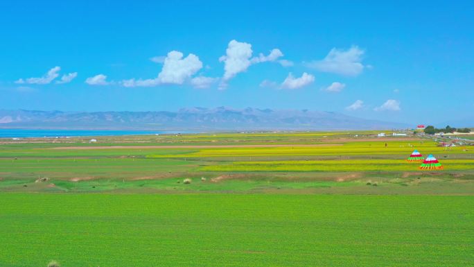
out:
M82 137L82 136L119 136L119 135L155 135L172 134L163 131L136 130L40 130L40 129L0 129L0 138L25 137ZM184 132L182 132L184 133Z

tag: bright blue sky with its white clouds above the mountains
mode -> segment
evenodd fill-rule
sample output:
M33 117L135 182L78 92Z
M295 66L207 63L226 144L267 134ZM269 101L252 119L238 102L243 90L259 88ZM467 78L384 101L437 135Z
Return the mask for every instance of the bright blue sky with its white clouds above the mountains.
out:
M367 2L3 1L0 109L472 117L474 3Z

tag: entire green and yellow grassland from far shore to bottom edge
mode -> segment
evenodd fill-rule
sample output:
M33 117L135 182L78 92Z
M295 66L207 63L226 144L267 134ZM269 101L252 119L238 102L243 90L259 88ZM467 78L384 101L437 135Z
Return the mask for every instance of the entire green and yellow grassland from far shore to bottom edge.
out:
M0 266L474 266L474 146L376 133L2 139Z

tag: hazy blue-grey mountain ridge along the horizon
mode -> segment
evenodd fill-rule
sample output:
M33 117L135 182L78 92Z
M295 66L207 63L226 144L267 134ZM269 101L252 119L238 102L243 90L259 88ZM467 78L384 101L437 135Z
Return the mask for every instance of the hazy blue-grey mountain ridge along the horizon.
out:
M177 112L0 110L0 128L71 130L361 130L410 127L336 112L191 107Z

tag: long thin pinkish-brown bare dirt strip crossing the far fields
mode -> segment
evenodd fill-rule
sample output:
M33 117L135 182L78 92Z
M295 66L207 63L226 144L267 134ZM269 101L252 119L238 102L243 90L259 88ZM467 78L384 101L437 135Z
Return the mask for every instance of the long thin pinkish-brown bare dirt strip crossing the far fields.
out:
M94 150L94 149L170 149L170 148L288 148L288 147L318 147L318 146L342 146L342 144L260 144L260 145L202 145L202 146L61 146L58 150Z

